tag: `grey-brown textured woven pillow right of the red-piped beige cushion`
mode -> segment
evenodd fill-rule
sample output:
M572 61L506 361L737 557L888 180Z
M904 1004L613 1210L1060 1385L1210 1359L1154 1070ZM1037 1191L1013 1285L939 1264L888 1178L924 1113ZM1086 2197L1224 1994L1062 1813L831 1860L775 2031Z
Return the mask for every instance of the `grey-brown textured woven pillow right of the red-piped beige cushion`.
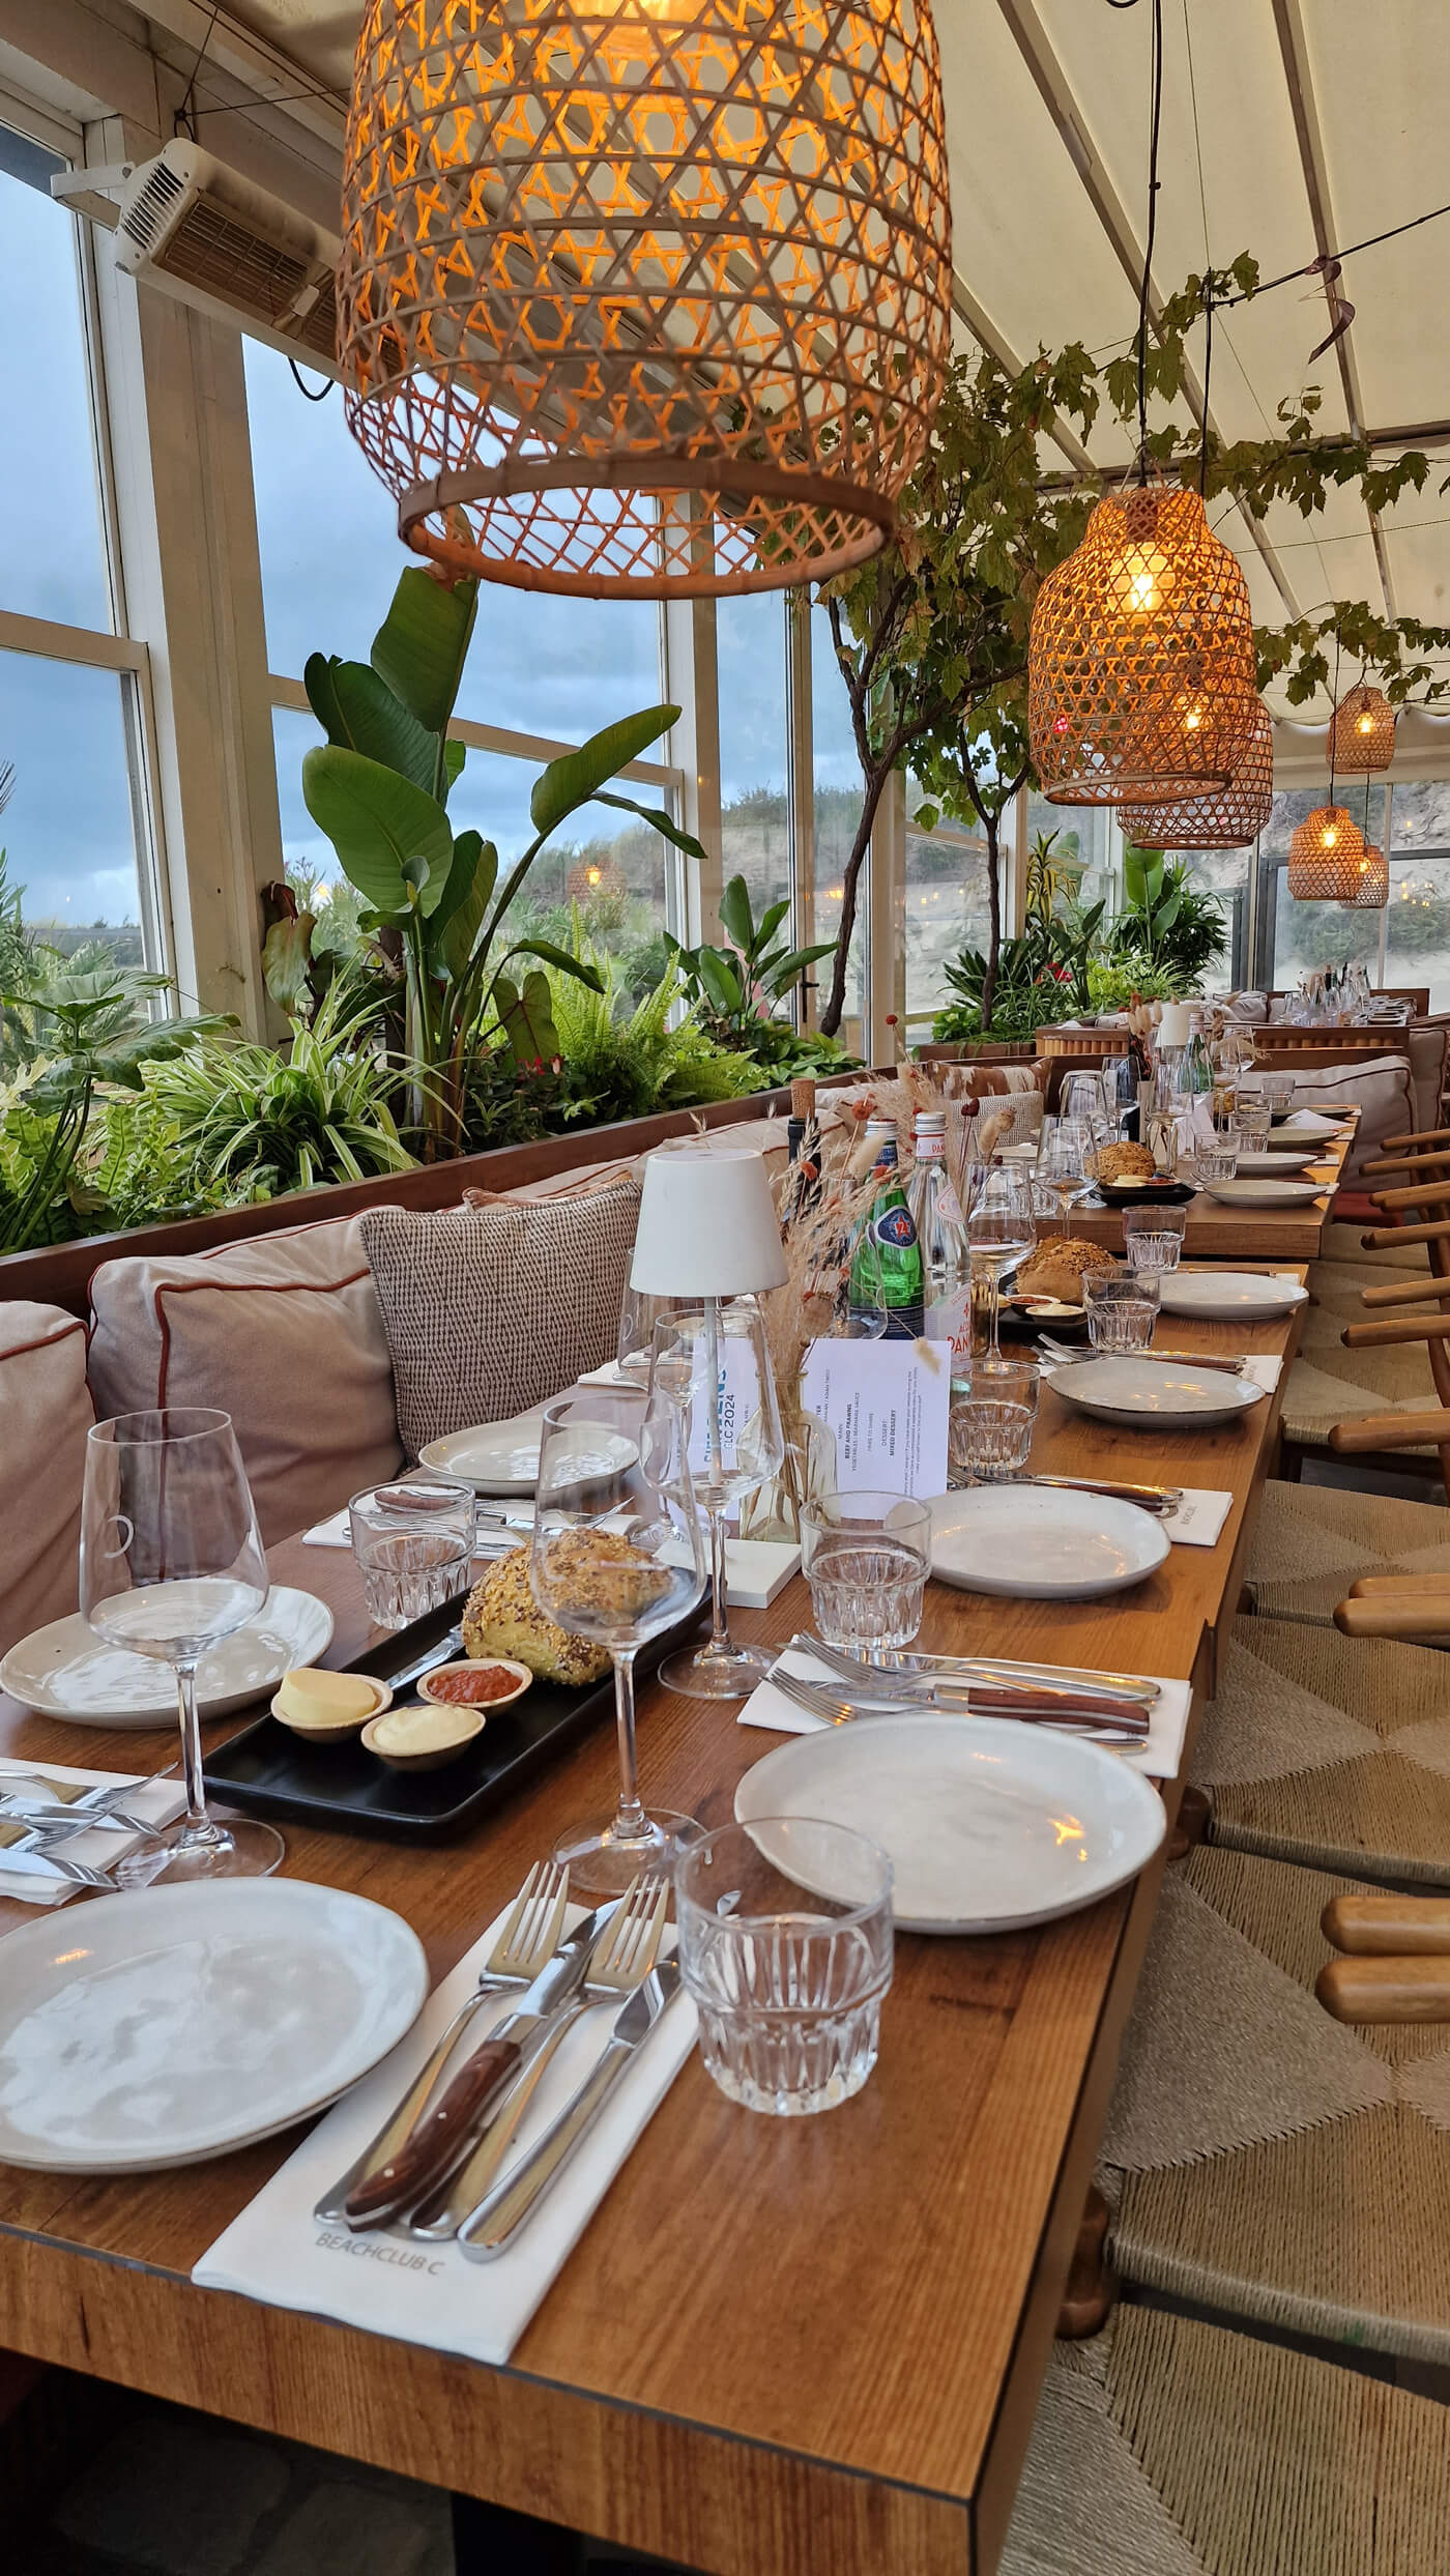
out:
M634 1175L569 1198L363 1211L410 1458L613 1360L636 1221Z

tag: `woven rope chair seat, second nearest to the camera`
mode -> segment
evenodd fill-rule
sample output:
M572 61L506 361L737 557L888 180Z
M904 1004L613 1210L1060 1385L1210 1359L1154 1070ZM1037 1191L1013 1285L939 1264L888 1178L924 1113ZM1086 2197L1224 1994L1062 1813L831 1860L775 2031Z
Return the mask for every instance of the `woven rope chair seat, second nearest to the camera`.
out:
M1450 2025L1321 2009L1337 1893L1362 1880L1213 1847L1169 1870L1102 2138L1113 2262L1229 2316L1450 2365Z

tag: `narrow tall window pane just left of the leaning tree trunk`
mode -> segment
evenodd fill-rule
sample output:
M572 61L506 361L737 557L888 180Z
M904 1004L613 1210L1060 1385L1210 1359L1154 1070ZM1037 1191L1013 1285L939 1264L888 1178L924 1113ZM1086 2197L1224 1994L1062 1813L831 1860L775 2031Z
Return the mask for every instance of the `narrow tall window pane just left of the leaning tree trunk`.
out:
M721 873L744 876L755 920L791 902L788 603L760 592L716 605L721 693ZM706 922L706 938L713 925Z

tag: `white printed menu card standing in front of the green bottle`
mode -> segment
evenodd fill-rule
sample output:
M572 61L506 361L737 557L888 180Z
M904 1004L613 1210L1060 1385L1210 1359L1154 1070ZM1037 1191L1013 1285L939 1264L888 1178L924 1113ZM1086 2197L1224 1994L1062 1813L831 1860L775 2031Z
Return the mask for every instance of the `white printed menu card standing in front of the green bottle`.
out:
M801 1399L834 1432L837 1486L945 1494L950 1342L811 1342Z

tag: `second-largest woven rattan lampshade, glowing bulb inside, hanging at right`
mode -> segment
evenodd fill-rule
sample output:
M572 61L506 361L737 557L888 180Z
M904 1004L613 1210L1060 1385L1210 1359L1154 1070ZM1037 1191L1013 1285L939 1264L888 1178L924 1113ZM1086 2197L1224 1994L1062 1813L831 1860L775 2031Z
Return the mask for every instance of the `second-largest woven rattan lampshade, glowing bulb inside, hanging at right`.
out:
M1100 500L1033 603L1028 729L1053 804L1221 791L1254 726L1249 587L1198 492Z

